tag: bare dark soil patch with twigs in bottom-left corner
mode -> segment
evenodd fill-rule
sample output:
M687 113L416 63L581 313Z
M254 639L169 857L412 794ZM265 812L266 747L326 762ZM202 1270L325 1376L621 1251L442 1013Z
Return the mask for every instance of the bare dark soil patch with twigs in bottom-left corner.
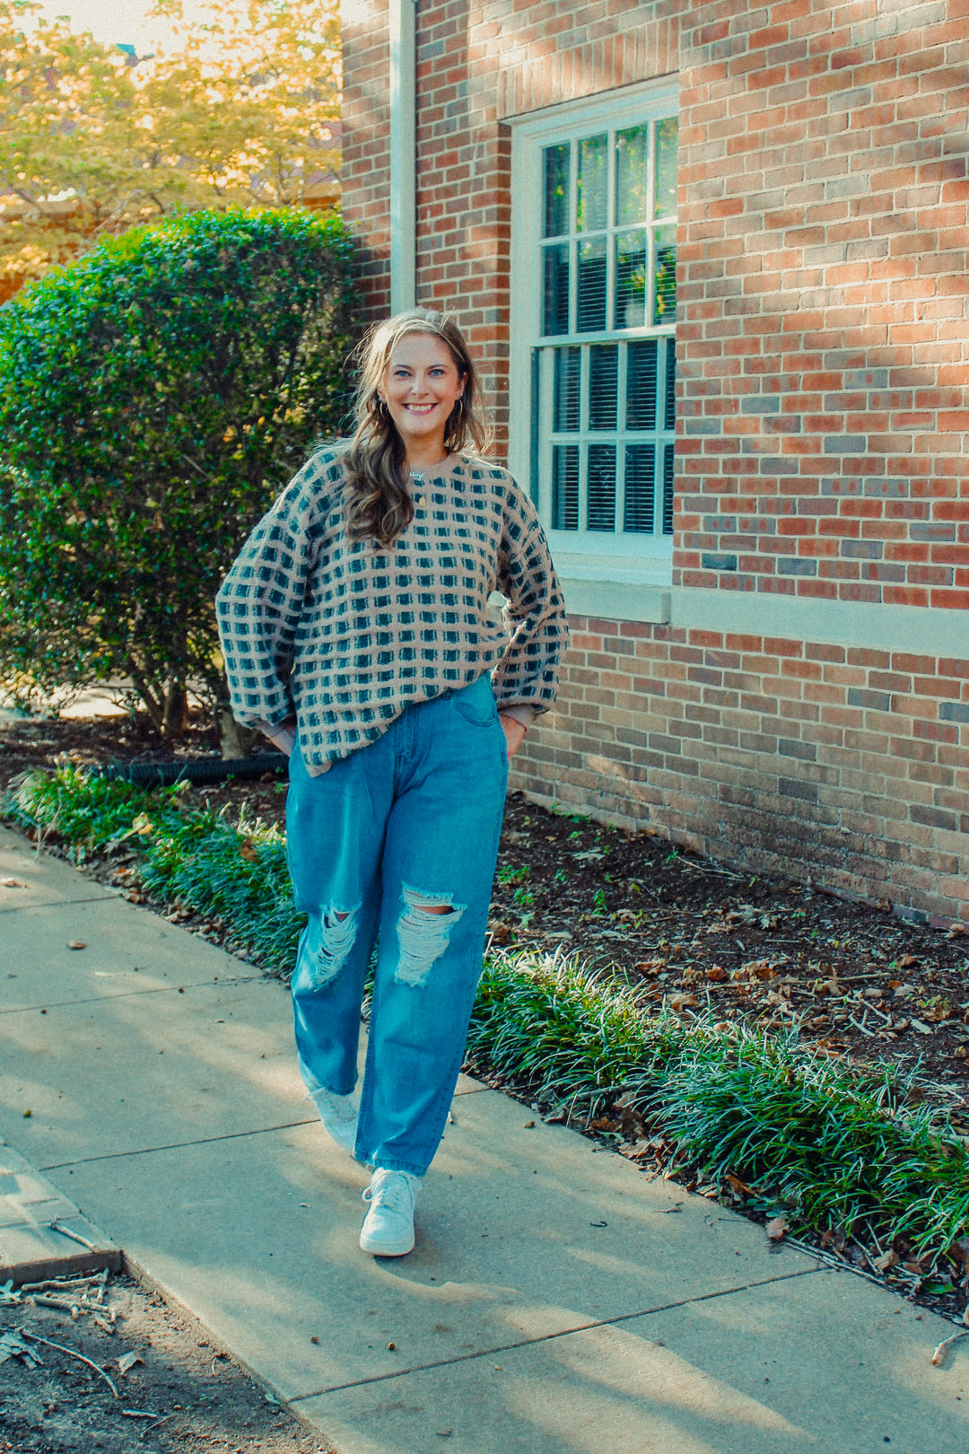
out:
M330 1445L270 1402L205 1330L126 1277L113 1277L108 1301L113 1333L81 1313L0 1303L0 1338L26 1329L97 1364L23 1339L44 1362L0 1364L0 1451L16 1454L328 1454ZM139 1362L122 1373L128 1352ZM125 1412L128 1410L128 1412ZM139 1415L153 1415L144 1418Z

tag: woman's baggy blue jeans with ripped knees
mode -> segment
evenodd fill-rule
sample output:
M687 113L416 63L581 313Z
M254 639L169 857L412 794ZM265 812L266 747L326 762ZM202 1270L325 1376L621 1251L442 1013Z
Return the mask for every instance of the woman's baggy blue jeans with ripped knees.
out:
M311 1092L354 1088L379 933L354 1153L372 1166L423 1176L437 1150L481 976L507 776L487 676L408 707L321 776L298 746L289 760L289 869L309 916L292 997Z

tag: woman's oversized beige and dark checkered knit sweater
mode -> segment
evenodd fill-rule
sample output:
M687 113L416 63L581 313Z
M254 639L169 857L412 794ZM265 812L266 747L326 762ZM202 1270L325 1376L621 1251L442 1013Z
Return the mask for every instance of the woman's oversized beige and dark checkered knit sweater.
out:
M414 481L392 550L350 541L338 449L302 467L246 541L216 598L232 712L295 712L307 766L379 737L413 702L492 673L500 707L546 711L565 608L532 502L507 470L458 455ZM504 627L488 596L508 598Z

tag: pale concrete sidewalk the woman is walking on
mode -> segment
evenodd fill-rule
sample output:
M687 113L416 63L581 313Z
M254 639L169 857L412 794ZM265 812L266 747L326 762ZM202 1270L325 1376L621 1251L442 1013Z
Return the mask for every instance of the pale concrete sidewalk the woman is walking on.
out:
M0 1137L341 1454L969 1448L952 1323L466 1077L365 1256L286 990L0 830L3 878Z

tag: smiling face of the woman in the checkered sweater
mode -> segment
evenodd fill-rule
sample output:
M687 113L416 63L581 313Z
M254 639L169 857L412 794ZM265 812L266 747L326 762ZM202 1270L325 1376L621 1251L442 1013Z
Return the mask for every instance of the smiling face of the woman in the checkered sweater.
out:
M398 339L379 393L408 457L443 455L447 420L463 388L463 375L443 339L433 333L405 333Z

